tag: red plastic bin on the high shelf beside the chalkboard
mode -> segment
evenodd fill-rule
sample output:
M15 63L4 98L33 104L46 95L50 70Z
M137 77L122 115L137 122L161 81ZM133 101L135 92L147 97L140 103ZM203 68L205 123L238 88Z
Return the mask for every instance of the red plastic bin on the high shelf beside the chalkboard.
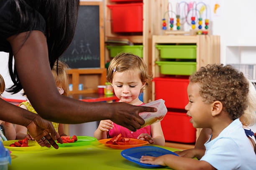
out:
M113 32L143 32L143 3L107 6L112 11Z

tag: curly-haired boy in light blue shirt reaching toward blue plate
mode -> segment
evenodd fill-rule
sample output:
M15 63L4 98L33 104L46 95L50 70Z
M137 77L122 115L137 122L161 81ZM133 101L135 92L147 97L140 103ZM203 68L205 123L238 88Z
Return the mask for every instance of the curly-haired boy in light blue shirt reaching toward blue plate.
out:
M162 155L142 156L141 163L169 166L175 170L253 170L256 155L239 117L248 107L248 80L232 66L207 65L190 76L189 103L185 106L195 128L212 134L197 158Z

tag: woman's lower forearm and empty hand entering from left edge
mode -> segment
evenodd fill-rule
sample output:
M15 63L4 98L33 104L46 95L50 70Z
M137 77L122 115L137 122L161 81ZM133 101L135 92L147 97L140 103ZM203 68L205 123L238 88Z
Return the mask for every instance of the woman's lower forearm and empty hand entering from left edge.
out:
M54 130L51 122L42 119L39 115L33 112L29 112L26 109L10 104L1 98L0 106L0 120L25 126L39 145L48 148L52 145L54 148L58 149L59 147L54 140L63 143L59 134ZM51 135L49 135L49 133L51 133ZM45 137L51 145L47 140L41 140L43 137Z

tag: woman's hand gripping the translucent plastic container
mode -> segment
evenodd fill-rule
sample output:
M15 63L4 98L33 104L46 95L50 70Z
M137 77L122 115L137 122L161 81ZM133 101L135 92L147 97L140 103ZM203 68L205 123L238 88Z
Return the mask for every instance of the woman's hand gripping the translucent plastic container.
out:
M156 112L154 107L134 106L125 102L113 102L110 120L135 132L145 121L139 116L140 112Z

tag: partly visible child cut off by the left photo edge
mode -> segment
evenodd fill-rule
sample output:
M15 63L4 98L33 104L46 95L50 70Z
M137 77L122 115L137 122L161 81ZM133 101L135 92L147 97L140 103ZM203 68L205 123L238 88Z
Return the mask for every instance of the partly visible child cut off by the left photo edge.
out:
M5 91L5 80L0 75L0 98ZM0 120L0 141L15 140L16 133L12 123Z

